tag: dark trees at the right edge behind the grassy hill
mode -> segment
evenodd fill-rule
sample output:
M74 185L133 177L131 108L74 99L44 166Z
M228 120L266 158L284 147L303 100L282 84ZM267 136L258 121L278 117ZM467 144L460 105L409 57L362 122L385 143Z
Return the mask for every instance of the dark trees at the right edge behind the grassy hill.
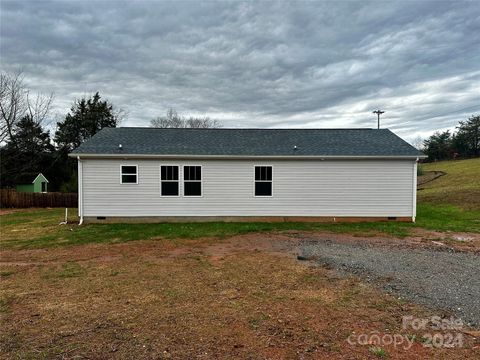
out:
M464 159L480 156L480 115L460 121L454 132L436 132L423 141L427 161Z

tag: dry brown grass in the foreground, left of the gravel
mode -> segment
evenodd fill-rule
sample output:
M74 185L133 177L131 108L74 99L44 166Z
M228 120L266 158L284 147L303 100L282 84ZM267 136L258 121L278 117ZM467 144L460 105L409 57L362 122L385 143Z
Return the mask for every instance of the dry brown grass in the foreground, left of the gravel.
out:
M279 241L279 240L283 240ZM347 337L401 331L417 306L307 266L286 237L137 241L2 253L7 358L372 358ZM480 350L385 347L393 358Z

